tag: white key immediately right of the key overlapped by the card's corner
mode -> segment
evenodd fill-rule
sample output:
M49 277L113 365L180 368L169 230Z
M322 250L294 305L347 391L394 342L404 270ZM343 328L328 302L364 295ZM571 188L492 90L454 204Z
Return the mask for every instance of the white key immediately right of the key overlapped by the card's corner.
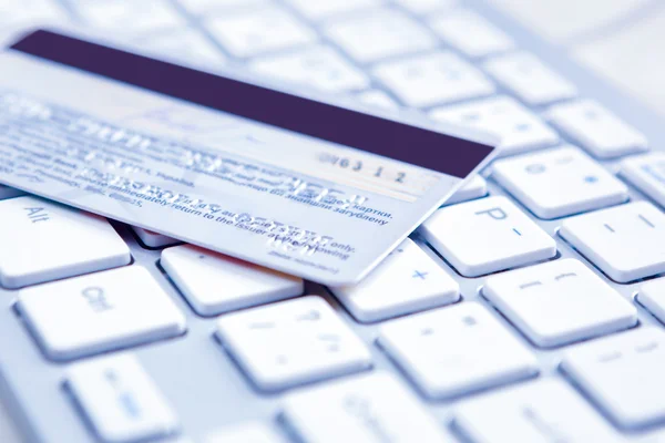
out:
M646 151L646 137L593 100L555 105L548 119L598 158Z

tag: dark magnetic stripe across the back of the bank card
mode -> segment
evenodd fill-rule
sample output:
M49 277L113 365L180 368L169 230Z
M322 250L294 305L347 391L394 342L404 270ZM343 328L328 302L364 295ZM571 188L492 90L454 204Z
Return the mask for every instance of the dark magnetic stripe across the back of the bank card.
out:
M214 110L457 177L466 177L492 152L491 146L483 144L51 31L35 31L13 44L11 49ZM48 81L49 79L44 78L44 82Z

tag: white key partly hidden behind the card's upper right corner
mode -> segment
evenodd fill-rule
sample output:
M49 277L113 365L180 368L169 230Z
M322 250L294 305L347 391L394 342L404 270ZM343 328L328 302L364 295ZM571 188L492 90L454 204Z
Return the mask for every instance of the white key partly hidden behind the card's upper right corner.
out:
M499 155L518 154L559 142L556 132L516 100L508 96L439 107L432 111L431 116L500 135Z

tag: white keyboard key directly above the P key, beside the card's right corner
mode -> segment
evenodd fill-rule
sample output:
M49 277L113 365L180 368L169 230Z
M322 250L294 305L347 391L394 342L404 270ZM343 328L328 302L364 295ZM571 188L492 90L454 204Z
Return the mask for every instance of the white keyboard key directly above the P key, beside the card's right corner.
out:
M540 218L557 218L616 205L628 188L572 146L495 162L493 177Z

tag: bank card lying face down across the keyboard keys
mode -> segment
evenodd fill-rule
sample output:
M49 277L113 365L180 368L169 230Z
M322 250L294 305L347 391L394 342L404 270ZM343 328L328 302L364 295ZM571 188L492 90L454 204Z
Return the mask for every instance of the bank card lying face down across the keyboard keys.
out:
M0 183L330 286L493 155L409 112L57 31L0 53Z

